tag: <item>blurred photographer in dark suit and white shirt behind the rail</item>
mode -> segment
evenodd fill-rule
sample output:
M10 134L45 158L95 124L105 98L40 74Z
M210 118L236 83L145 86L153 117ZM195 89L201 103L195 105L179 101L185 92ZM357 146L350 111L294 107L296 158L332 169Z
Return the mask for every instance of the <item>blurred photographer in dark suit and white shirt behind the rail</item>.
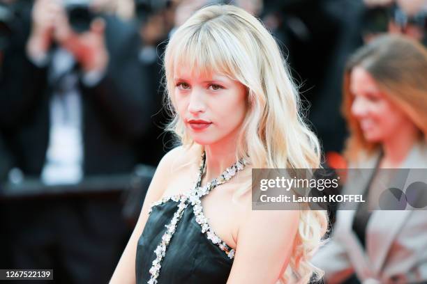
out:
M58 186L130 173L153 113L137 31L75 2L34 1L19 31L28 36L6 50L0 81L0 131L13 166ZM10 267L52 267L60 283L105 283L128 237L118 199L14 200Z

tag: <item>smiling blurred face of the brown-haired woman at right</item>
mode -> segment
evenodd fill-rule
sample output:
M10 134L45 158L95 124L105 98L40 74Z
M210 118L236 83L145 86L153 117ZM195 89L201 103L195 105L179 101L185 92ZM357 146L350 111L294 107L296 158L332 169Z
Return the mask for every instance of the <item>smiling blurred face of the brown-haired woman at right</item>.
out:
M392 139L401 127L413 126L412 120L382 93L364 68L352 70L350 90L354 95L351 112L367 141L381 143Z

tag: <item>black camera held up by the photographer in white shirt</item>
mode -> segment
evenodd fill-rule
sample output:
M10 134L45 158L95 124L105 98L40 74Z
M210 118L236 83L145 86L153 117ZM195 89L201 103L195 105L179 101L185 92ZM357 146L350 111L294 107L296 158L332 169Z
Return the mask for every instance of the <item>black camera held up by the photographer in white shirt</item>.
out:
M91 11L88 0L63 0L63 6L68 16L68 22L76 33L89 31L91 22L96 15Z

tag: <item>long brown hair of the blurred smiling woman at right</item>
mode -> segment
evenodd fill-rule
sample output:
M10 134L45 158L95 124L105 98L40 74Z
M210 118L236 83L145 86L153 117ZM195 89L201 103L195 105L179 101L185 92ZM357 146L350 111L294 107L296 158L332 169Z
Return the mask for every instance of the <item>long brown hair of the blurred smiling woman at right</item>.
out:
M384 35L361 47L348 59L344 72L343 116L350 136L345 157L357 161L360 153L370 154L380 145L367 141L351 108L350 75L355 67L366 70L389 100L399 106L427 135L427 49L419 42L401 35Z

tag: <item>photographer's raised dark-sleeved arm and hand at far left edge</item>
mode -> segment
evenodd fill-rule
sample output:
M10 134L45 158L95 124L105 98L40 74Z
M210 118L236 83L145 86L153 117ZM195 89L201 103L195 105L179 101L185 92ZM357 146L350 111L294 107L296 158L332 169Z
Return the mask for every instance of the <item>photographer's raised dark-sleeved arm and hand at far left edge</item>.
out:
M3 129L14 129L31 119L43 100L52 31L52 22L44 18L54 14L54 8L48 5L50 2L35 1L33 9L28 9L31 13L24 13L27 9L21 7L22 15L16 19L10 45L4 51L0 78L0 127Z

